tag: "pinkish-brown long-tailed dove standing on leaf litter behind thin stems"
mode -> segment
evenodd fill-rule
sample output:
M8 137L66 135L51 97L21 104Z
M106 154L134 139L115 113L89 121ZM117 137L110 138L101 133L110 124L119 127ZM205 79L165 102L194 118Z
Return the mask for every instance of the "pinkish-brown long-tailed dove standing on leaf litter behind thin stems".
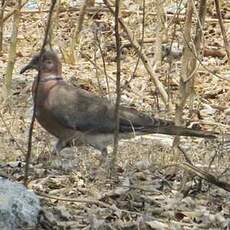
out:
M107 147L114 142L115 104L68 84L62 76L61 61L52 48L34 55L20 73L30 69L38 71L32 86L35 117L46 131L57 138L54 153L59 154L75 141L94 147L101 152L102 158L106 157ZM212 131L176 126L170 120L155 118L121 105L119 138L130 138L133 133L216 138L216 133Z

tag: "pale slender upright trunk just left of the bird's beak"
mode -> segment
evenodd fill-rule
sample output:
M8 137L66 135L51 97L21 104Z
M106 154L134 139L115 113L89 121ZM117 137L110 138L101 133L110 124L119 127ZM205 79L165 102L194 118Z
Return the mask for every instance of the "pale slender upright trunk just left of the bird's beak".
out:
M5 75L5 86L7 90L10 90L11 88L12 74L13 74L14 64L16 61L16 46L17 46L18 27L20 22L20 9L21 9L21 0L18 0L17 9L15 10L14 13L13 30L10 39L8 63L7 63L6 75Z

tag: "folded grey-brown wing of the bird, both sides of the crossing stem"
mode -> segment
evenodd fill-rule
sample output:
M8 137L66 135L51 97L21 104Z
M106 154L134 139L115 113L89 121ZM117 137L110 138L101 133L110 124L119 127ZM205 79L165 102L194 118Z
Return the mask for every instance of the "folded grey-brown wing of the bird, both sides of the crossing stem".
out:
M66 128L111 133L115 129L115 107L108 100L66 83L56 85L46 106ZM135 109L120 107L120 131L132 132L152 126L155 120Z

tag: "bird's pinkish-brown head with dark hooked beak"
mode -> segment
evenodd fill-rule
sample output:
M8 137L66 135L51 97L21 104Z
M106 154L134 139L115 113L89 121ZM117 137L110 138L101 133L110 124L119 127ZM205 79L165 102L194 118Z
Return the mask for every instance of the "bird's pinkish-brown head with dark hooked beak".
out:
M31 61L21 69L20 74L27 70L35 69L41 74L61 75L61 62L52 49L45 49L41 54L36 54Z

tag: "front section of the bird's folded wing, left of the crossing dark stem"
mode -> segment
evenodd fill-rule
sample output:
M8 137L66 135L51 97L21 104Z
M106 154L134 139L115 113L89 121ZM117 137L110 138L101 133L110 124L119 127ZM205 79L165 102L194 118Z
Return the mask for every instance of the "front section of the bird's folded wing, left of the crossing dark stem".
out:
M46 107L66 128L90 132L113 132L113 107L85 90L59 83L49 93Z

